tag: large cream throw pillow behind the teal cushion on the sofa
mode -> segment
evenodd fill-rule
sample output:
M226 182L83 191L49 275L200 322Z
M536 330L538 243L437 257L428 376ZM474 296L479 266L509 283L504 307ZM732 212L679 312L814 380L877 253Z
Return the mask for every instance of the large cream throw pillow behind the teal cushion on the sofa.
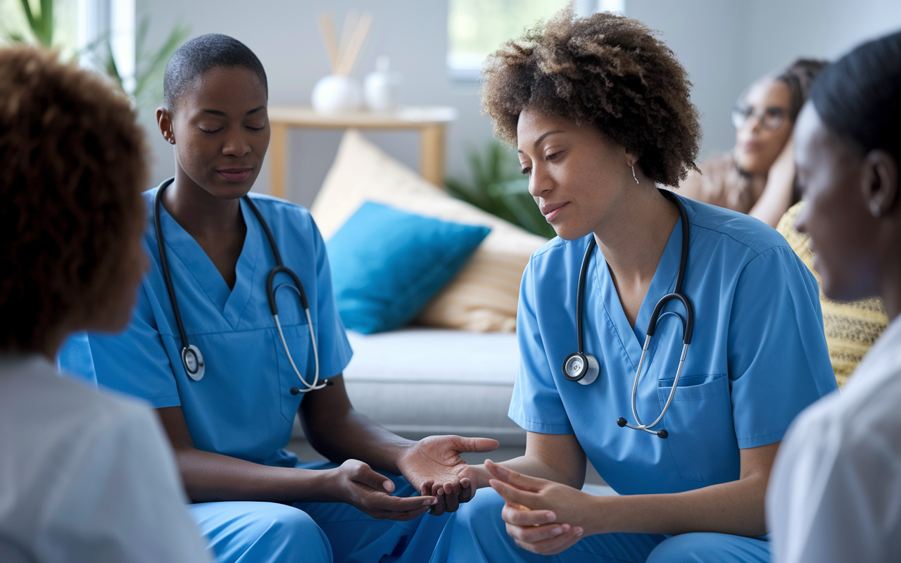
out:
M387 156L356 130L338 156L310 211L328 240L365 201L409 213L491 228L469 263L416 317L424 324L467 331L515 331L523 270L540 236L455 199Z

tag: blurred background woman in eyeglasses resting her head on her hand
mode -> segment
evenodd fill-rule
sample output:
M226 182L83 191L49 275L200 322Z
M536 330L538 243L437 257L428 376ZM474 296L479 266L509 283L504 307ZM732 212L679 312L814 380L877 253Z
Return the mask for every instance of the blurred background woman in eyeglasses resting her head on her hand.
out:
M689 173L679 194L757 217L775 227L797 201L791 132L823 60L797 59L751 84L733 108L735 149Z

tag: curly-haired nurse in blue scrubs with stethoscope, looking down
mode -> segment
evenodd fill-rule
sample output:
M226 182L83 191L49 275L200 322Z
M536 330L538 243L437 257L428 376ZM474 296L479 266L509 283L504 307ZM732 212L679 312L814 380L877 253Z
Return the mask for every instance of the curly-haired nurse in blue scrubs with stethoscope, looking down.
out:
M432 562L769 561L779 440L836 388L814 277L763 223L659 188L695 168L699 127L642 23L563 10L483 84L558 237L520 291L525 455L474 468L493 490L451 515ZM618 495L580 490L587 460Z

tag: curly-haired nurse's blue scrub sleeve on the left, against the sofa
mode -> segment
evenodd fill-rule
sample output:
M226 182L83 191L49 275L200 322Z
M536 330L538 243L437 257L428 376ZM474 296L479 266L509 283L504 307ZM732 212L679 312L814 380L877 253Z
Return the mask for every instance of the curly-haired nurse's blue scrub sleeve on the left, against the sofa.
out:
M535 314L535 282L532 260L523 273L516 311L519 341L519 371L507 415L526 431L542 434L572 434L572 425L554 383Z

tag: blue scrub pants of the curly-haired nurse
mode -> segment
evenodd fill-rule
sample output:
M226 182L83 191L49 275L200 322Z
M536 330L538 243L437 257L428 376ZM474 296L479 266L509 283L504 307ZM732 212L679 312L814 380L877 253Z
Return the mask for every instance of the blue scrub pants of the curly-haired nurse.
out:
M504 499L481 489L451 517L431 563L769 563L766 540L724 533L606 533L588 536L558 555L535 555L514 543L501 520Z

